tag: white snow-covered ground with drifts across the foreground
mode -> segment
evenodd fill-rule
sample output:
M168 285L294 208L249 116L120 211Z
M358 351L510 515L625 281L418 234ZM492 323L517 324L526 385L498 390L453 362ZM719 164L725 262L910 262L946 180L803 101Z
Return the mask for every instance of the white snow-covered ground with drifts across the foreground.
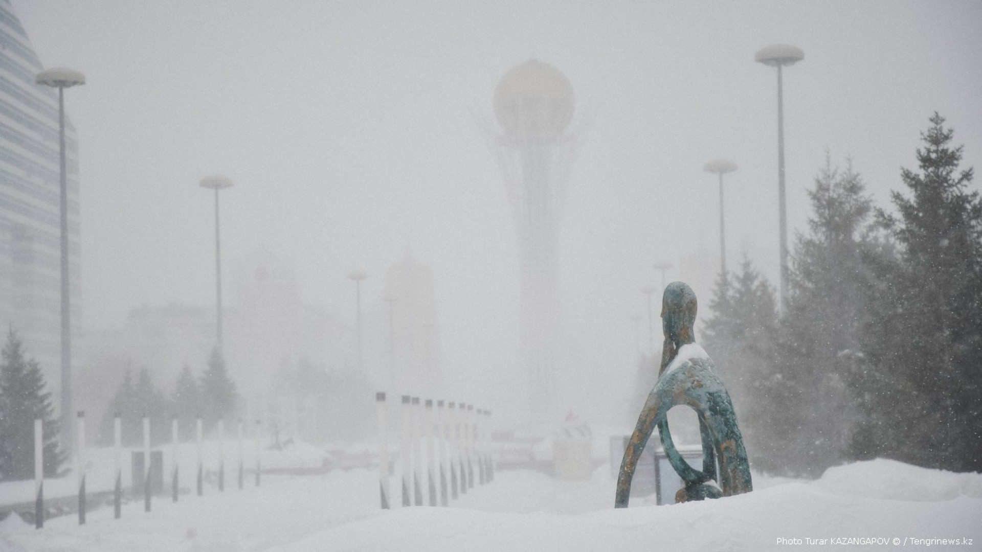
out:
M829 469L816 481L758 475L752 493L720 500L673 506L635 500L627 510L614 510L613 502L611 469L602 466L588 481L499 471L450 508L381 511L375 470L336 469L268 475L260 487L249 480L242 491L209 486L205 496L183 495L176 504L158 497L150 513L136 501L125 505L121 520L111 507L90 512L84 525L65 516L42 529L10 516L0 523L0 549L845 550L895 542L982 549L982 474L887 460ZM840 538L853 540L833 540ZM945 538L959 543L924 540Z

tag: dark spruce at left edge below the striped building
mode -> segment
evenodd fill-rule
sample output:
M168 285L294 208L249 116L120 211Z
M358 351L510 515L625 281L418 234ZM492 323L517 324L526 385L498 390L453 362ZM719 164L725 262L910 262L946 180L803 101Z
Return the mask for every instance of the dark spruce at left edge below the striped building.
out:
M44 475L53 477L65 463L58 446L58 422L51 393L44 390L44 375L37 360L27 359L24 344L13 328L0 364L0 480L34 476L34 419L40 418L44 435Z

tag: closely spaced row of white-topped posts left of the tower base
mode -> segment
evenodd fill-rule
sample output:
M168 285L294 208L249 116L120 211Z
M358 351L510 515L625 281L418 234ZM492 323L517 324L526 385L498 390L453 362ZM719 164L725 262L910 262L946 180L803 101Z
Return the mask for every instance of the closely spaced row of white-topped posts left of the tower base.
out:
M389 492L385 393L375 394L378 405L379 491L383 509L392 507ZM446 404L446 410L444 405ZM425 407L423 406L425 405ZM448 506L449 499L477 483L494 479L490 432L491 412L473 405L445 403L403 395L402 438L399 446L403 506L423 506L423 487L429 506ZM425 410L424 410L425 409ZM425 444L426 453L423 455Z

